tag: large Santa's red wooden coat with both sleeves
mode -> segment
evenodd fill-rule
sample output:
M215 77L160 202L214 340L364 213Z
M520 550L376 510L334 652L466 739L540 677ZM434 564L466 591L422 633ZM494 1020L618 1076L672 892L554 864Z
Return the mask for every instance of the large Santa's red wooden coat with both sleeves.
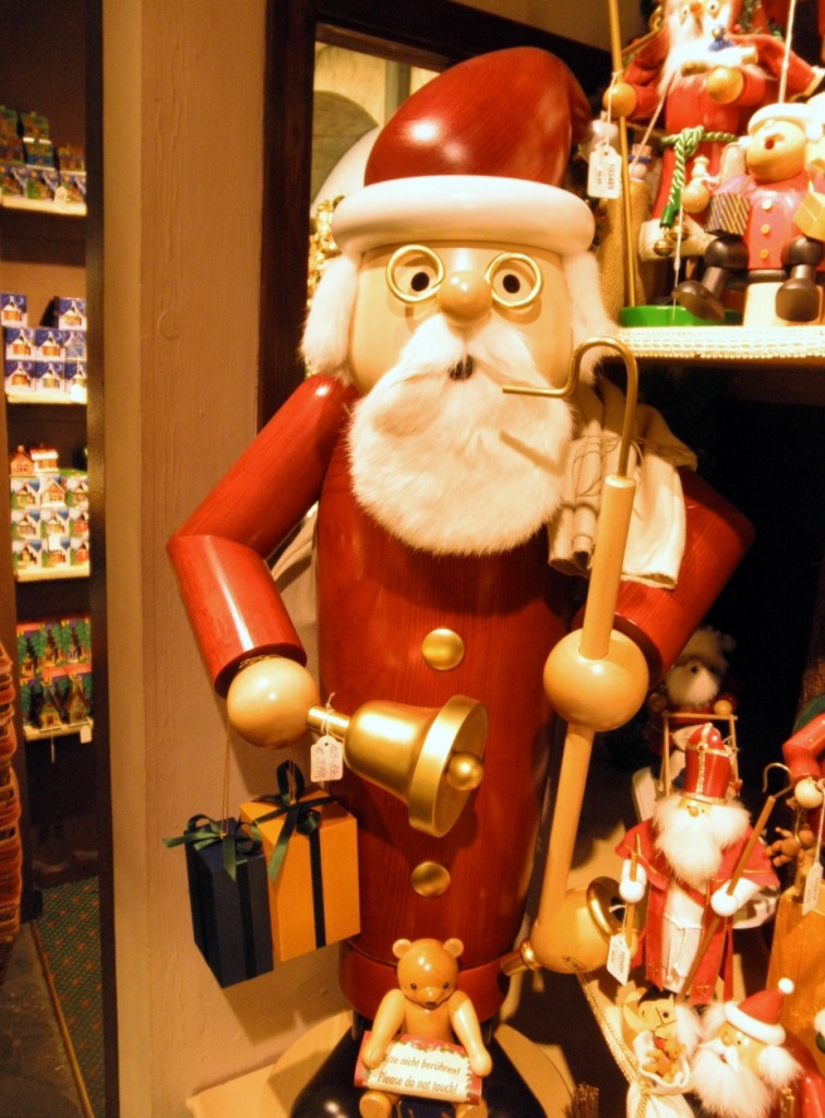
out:
M262 652L303 660L265 558L320 500L317 639L322 697L353 713L387 699L440 707L454 694L490 714L485 776L442 839L412 831L404 804L348 771L333 793L359 821L361 934L344 948L342 986L371 1017L395 986L399 937L465 945L461 986L482 1020L499 1008L499 960L521 923L548 774L551 712L544 660L566 632L581 584L548 567L546 533L484 558L435 557L385 532L353 495L345 449L352 389L305 381L176 532L169 550L211 679L225 693L238 662ZM690 553L675 591L627 585L622 625L654 679L684 645L739 561L749 525L694 479ZM518 500L518 493L513 494ZM578 594L577 594L578 591ZM448 627L465 644L451 671L421 642ZM410 872L433 860L451 874L420 897Z

